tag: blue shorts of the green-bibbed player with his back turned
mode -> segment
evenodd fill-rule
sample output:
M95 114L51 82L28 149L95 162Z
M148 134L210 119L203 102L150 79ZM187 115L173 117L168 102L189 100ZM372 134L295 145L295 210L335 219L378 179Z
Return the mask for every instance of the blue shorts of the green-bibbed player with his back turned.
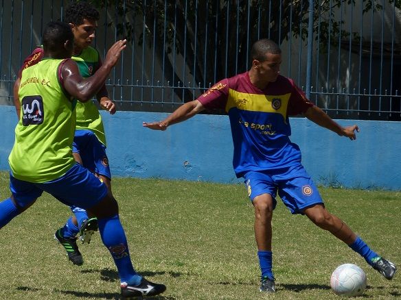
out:
M41 184L16 179L10 173L10 190L21 208L32 203L44 191L66 205L84 209L98 204L107 195L106 185L78 163L58 179Z

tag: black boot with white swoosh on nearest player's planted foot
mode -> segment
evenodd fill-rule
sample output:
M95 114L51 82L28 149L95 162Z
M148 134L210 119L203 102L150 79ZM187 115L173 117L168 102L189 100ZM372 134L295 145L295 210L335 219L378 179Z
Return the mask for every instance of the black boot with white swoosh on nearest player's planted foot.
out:
M121 297L122 299L130 299L136 297L136 299L142 299L142 297L156 296L165 291L164 284L154 284L148 282L144 277L141 279L141 283L137 286L132 286L123 282L121 284Z

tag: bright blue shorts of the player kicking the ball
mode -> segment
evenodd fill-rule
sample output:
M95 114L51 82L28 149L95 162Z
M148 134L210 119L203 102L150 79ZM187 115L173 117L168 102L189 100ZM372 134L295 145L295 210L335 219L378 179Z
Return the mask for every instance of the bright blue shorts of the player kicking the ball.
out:
M251 201L259 195L270 194L275 208L278 192L292 214L301 214L308 206L323 204L319 190L301 164L273 171L249 171L243 177Z

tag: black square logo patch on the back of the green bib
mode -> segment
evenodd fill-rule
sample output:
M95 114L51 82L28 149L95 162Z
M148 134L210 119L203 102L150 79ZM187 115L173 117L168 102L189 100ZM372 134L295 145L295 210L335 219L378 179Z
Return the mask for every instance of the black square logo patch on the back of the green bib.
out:
M22 105L22 124L39 125L43 123L43 99L40 95L26 96L21 101Z

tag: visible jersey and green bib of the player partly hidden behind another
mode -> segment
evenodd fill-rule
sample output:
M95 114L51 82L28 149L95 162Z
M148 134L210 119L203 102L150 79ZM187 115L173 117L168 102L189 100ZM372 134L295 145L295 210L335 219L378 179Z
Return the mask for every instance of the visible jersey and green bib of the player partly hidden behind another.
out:
M43 48L38 47L23 62L23 66L19 71L19 77L21 77L21 71L23 69L37 64L41 61L41 58L43 58ZM90 46L83 49L79 55L74 55L72 59L78 64L80 74L84 78L90 77L99 68L100 55L95 48ZM98 107L93 101L87 101L85 103L77 102L76 129L91 130L91 132L98 137L98 140L106 145L102 116L99 114Z

